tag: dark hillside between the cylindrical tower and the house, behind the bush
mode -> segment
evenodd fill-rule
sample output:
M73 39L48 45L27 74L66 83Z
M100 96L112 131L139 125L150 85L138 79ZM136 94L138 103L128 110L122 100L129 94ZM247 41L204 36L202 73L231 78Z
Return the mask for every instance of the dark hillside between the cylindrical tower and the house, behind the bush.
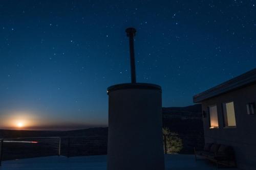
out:
M201 105L167 107L162 109L163 127L177 133L182 139L180 153L192 154L193 148L203 148L204 130Z

